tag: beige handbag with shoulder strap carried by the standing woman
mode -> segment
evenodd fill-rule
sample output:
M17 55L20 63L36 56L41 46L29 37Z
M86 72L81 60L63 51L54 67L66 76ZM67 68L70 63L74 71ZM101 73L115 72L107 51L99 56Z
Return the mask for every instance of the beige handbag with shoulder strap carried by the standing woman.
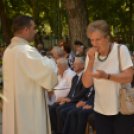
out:
M120 45L118 46L119 68L121 71ZM134 114L134 89L121 88L119 90L119 109L123 115Z

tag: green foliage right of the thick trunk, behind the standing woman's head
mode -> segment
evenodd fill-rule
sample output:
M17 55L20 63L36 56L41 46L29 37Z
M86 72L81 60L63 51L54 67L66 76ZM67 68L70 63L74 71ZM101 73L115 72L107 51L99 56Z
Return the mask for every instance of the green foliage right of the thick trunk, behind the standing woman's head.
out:
M132 0L87 0L90 22L104 19L112 27L115 37L132 42L134 34L134 1ZM132 14L132 16L131 16ZM132 22L132 23L131 23ZM131 33L130 33L131 31Z

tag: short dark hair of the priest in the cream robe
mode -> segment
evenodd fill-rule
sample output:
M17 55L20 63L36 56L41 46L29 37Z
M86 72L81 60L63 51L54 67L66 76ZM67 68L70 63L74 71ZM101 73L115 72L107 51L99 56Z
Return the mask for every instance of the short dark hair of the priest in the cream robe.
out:
M34 21L32 17L29 17L27 15L19 15L13 20L13 32L18 32L22 30L24 27L30 28L31 27L31 20Z

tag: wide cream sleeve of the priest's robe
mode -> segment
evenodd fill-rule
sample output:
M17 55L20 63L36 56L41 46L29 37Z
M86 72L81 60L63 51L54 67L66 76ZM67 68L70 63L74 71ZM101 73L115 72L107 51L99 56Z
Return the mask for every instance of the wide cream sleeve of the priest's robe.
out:
M46 89L57 84L57 65L53 59L42 57L36 49L28 48L19 53L19 64L24 73Z

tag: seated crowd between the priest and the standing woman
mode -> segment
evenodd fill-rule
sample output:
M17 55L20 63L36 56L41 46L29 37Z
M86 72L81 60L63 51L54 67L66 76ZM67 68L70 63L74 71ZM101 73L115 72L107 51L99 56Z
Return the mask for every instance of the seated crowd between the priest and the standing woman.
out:
M53 134L83 134L88 116L93 113L94 86L85 88L82 83L87 51L80 41L75 41L75 45L76 54L64 40L46 52L46 56L54 58L58 67L58 83L54 91L45 91Z

